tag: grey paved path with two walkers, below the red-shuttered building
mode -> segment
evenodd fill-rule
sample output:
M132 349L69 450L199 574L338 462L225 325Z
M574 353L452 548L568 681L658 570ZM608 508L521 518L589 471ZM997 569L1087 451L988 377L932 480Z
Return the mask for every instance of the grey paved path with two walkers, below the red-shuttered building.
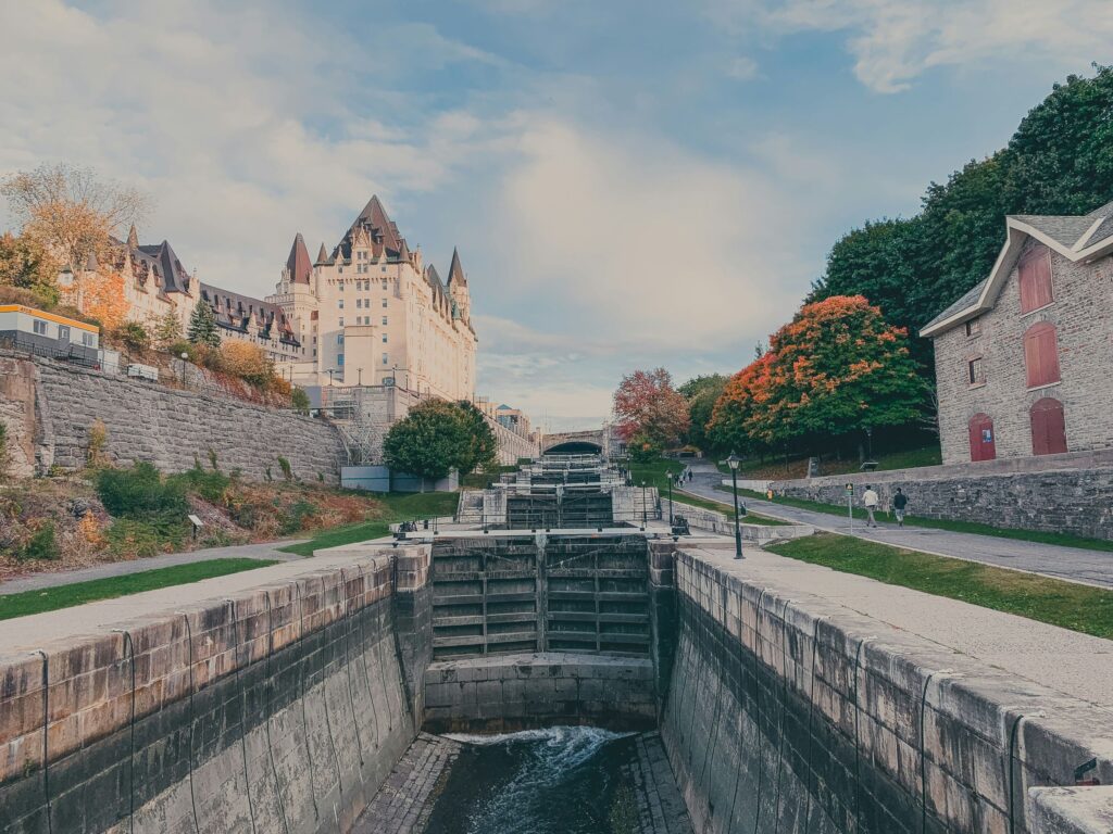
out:
M695 478L684 488L693 495L723 503L730 502L730 493L716 489L722 484L723 475L713 464L697 460L691 464ZM868 528L864 522L855 519L854 529L848 527L846 516L834 516L811 509L799 509L781 504L745 498L746 506L755 513L774 516L787 522L810 524L817 529L854 535L871 542L881 542L897 547L908 547L938 556L952 556L973 562L984 562L1015 570L1053 576L1060 579L1100 585L1113 588L1113 552L1085 550L1078 547L1043 545L1013 538L978 536L973 533L952 533L930 527L904 527L880 522L880 526ZM879 514L884 518L884 514Z

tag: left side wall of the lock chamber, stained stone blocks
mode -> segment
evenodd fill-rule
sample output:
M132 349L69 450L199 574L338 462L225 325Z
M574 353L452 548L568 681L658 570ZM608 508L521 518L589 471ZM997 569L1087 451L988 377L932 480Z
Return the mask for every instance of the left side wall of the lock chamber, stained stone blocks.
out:
M393 567L0 658L0 832L347 831L416 735Z

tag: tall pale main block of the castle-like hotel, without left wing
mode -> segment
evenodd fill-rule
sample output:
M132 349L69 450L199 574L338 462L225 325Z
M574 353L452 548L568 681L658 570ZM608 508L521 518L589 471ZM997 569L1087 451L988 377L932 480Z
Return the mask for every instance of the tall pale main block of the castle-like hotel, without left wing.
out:
M302 235L266 301L290 321L305 358L293 381L397 385L445 399L475 391L477 339L457 252L442 280L411 250L378 197L333 247L311 261Z

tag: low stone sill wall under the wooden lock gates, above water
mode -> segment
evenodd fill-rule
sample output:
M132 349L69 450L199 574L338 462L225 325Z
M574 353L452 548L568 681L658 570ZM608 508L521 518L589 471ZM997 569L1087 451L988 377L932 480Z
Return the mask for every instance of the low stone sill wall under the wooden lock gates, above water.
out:
M425 672L426 731L516 732L552 724L648 729L653 663L605 654L487 655Z

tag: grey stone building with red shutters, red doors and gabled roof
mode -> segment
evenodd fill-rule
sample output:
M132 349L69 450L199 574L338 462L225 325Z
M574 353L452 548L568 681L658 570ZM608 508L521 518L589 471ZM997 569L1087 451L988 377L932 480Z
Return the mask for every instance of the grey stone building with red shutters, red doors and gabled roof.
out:
M1113 202L1006 227L989 276L920 330L944 464L1113 447Z

